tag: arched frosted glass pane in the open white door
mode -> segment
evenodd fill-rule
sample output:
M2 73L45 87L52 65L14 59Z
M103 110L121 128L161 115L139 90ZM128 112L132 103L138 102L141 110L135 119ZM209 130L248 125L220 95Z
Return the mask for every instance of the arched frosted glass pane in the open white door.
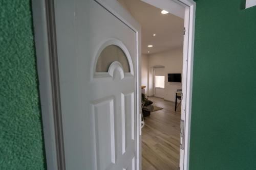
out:
M117 45L109 45L99 55L96 72L108 72L111 63L118 61L123 67L123 72L130 72L130 65L122 49Z

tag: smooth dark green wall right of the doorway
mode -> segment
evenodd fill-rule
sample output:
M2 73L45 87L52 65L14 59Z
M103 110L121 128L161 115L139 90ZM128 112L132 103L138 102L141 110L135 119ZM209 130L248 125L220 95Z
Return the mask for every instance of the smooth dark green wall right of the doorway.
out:
M198 0L190 169L256 169L256 7Z

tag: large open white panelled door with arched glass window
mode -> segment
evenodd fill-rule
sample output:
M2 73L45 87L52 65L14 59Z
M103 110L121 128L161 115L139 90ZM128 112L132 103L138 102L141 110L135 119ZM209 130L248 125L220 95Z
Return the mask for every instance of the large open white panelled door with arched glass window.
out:
M138 32L113 3L55 0L66 169L137 169Z

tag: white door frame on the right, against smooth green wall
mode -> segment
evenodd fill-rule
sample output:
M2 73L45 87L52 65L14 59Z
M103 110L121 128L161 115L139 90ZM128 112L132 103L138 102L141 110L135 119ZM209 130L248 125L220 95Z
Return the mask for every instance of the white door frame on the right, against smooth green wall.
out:
M193 0L141 0L145 3L169 10L174 10L174 3L185 8L184 15L184 42L183 42L183 70L182 70L182 113L181 120L184 120L183 146L180 149L180 169L189 169L189 143L190 143L190 119L191 119L191 102L192 102L192 83L193 83L193 61L194 61L194 35L195 35L195 12L196 3ZM179 16L180 14L175 13ZM155 89L155 88L154 88ZM184 90L186 89L186 90Z

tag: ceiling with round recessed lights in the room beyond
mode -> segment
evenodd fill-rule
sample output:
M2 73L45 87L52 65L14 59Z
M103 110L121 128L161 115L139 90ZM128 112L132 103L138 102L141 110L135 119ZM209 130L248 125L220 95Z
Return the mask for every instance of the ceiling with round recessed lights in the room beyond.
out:
M184 19L140 0L117 0L140 23L142 54L153 54L182 46ZM156 34L156 36L153 36ZM153 45L153 47L147 47ZM147 53L150 51L150 53Z

